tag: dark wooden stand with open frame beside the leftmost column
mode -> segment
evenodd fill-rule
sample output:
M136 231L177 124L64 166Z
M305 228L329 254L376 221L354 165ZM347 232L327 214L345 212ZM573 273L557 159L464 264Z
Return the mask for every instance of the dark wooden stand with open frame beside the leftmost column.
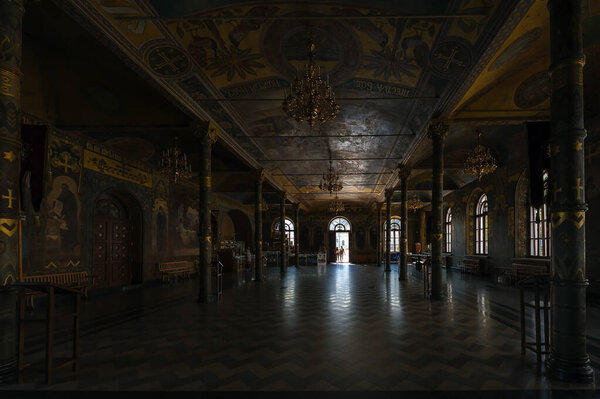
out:
M56 369L72 365L73 371L77 372L79 368L79 313L81 308L81 290L74 288L62 287L49 283L13 283L13 286L19 288L18 300L18 377L19 384L23 383L23 370L30 366L24 363L25 349L25 324L26 323L43 323L46 322L46 383L52 383L52 372ZM46 310L46 318L28 319L25 318L26 296L27 292L37 291L46 293L48 304ZM56 315L55 313L55 298L56 294L73 295L74 309L73 313ZM73 356L66 362L59 365L54 365L54 321L57 318L73 317Z

